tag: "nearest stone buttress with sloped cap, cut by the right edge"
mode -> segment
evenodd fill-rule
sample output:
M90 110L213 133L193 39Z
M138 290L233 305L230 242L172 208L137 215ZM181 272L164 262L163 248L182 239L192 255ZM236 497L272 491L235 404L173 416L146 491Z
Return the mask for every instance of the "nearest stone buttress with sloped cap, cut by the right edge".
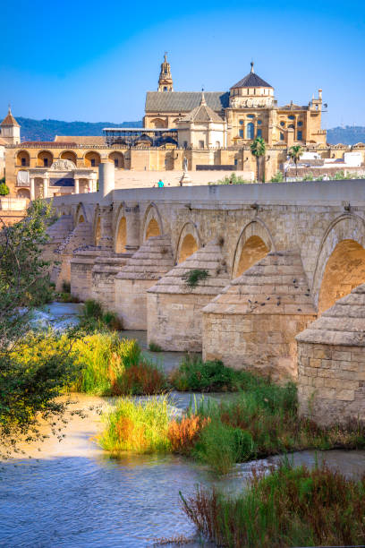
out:
M365 284L296 340L300 414L322 425L365 421Z

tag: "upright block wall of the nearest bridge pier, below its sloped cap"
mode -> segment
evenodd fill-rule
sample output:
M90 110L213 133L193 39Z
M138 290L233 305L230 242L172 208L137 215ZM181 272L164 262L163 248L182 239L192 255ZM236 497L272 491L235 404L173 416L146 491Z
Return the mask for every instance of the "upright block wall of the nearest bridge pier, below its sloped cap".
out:
M365 347L298 342L300 414L318 424L365 420Z

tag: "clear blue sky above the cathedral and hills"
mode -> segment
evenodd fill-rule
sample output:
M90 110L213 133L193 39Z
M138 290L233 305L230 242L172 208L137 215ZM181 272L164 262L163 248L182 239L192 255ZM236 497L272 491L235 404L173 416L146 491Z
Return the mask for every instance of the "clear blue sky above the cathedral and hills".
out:
M141 119L168 51L174 90L228 90L250 70L279 104L323 89L324 126L365 125L365 3L3 0L0 115Z

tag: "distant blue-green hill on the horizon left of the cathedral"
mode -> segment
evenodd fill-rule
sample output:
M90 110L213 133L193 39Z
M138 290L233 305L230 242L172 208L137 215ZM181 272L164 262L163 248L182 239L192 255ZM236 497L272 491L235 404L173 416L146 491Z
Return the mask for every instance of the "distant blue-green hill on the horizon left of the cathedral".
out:
M21 124L21 141L54 141L55 135L102 135L104 127L141 127L142 122L62 122L15 116Z

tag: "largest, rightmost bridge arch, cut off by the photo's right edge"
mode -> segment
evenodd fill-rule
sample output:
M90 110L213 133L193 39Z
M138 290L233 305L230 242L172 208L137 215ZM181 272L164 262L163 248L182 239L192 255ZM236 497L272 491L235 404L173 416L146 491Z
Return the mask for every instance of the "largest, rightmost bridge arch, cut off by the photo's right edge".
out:
M365 282L365 220L344 213L327 227L313 276L318 314Z

